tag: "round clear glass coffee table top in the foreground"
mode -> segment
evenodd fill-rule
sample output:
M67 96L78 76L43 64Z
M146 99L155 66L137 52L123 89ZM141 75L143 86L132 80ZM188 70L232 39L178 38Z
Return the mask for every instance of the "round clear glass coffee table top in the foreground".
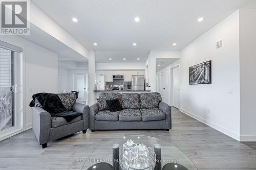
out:
M150 147L152 150L154 150L154 147L160 146L161 168L163 168L165 164L172 163L173 166L177 167L177 169L179 169L179 165L182 165L183 167L186 167L187 169L191 170L197 169L195 164L173 144L155 137L140 135L123 136L102 143L87 158L87 160L83 164L82 169L88 169L90 167L96 168L97 166L94 165L100 162L105 162L113 165L113 146L115 147L116 145L119 144L119 153L122 153L122 146L124 143L126 143L127 139L132 139L135 143L143 143L146 145L146 147ZM120 169L122 168L120 167Z

